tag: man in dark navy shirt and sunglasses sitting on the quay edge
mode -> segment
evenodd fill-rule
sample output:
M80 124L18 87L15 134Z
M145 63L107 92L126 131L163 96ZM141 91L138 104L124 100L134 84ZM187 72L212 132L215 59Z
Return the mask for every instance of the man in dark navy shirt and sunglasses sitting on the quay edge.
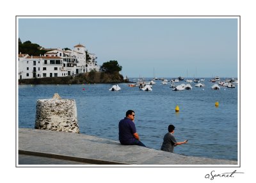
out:
M126 117L120 120L119 128L119 141L122 145L140 145L146 147L141 141L140 136L136 132L136 127L134 124L134 111L128 110L126 112Z

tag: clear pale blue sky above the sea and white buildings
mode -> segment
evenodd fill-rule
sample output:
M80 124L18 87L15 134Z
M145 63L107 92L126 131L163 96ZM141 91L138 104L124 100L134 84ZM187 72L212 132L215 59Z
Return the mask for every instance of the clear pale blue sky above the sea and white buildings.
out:
M19 17L20 40L82 44L124 77L237 77L237 17Z

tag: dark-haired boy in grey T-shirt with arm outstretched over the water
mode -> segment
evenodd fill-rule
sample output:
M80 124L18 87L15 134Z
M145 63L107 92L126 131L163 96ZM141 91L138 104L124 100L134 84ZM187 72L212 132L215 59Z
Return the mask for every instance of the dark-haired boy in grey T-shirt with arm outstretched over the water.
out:
M175 129L175 126L173 126L173 125L168 126L168 133L166 133L164 135L164 141L163 141L161 150L166 151L166 152L173 152L173 148L175 146L188 142L188 140L177 142L173 136L174 129Z

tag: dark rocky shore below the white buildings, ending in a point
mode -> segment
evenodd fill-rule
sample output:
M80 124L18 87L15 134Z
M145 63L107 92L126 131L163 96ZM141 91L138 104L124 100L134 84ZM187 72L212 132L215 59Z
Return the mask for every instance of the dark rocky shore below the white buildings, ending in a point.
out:
M19 79L19 84L83 84L83 83L125 83L124 77L115 73L87 72L76 76Z

